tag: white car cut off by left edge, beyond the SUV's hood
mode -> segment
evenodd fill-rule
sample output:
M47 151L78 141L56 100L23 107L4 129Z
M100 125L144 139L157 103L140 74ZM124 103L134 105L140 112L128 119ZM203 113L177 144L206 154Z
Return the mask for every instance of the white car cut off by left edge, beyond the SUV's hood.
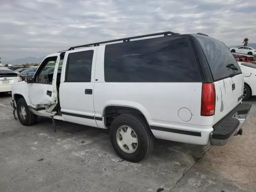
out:
M18 75L14 71L8 68L0 68L0 92L11 92L12 85L17 82Z

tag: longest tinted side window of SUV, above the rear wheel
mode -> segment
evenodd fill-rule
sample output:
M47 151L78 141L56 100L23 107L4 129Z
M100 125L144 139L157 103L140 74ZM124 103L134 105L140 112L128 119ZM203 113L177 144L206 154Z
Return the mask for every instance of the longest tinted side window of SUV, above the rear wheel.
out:
M186 36L106 45L106 82L201 82Z

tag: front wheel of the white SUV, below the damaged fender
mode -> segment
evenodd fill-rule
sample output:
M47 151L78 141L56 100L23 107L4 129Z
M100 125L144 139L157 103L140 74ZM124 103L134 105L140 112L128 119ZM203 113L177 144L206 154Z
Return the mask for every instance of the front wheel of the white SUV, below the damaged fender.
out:
M20 98L17 102L17 114L22 125L30 126L36 122L37 115L29 110L24 98Z

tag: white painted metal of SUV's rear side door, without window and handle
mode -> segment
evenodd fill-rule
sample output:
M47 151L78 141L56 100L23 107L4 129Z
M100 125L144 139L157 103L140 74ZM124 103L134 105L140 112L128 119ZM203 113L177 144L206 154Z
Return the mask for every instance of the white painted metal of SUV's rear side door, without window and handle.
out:
M85 89L94 90L94 70L96 62L96 54L98 47L89 47L77 50L67 51L63 60L61 80L60 80L60 107L61 112L68 112L73 114L80 114L90 116L93 119L75 117L62 114L65 121L74 122L78 124L98 127L94 120L94 94L85 94ZM93 50L94 56L92 60L92 74L91 82L64 82L66 60L68 54L80 51Z

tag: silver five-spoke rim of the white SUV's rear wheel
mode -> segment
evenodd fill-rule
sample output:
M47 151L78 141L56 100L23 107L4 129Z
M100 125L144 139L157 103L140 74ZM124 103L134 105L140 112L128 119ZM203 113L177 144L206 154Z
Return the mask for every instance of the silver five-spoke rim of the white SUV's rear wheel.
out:
M134 153L138 148L138 137L129 126L123 125L116 131L116 142L126 153Z

